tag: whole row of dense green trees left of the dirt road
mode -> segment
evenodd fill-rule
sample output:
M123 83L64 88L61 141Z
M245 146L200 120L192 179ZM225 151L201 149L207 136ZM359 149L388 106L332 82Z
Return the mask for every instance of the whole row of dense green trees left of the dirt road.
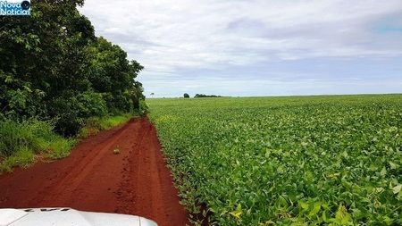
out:
M89 117L145 110L143 67L95 36L83 2L32 0L31 16L0 17L0 121L53 120L68 137Z

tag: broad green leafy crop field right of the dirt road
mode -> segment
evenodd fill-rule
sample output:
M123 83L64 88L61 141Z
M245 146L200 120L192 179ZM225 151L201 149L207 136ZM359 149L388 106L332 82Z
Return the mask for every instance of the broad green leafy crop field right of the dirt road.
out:
M147 103L195 220L205 206L212 225L402 224L400 95Z

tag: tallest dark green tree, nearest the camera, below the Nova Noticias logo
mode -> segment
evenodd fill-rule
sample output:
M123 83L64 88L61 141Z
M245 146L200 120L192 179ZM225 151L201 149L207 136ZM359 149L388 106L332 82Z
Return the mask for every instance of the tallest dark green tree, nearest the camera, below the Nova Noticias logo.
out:
M55 98L89 88L85 46L95 31L77 10L82 4L38 1L29 17L0 17L0 116L56 117L49 112Z

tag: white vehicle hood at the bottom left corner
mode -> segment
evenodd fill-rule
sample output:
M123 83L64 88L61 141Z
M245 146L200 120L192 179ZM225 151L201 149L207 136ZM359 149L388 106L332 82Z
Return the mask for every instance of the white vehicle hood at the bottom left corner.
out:
M71 208L0 209L0 226L157 226L143 217Z

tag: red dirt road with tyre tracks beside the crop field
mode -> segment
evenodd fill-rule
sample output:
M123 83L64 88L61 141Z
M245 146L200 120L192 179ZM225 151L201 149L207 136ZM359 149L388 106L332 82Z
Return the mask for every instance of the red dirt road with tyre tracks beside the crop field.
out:
M71 207L184 226L188 213L160 150L147 118L131 120L83 140L65 159L0 175L0 207Z

